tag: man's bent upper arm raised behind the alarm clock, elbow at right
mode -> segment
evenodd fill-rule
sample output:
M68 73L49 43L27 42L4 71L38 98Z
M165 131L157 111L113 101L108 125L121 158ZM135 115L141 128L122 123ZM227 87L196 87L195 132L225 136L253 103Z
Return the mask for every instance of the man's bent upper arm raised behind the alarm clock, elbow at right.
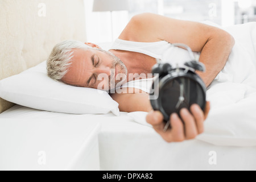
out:
M192 51L201 52L199 61L205 64L206 72L199 75L207 86L224 68L234 46L234 38L220 28L151 13L135 15L119 38L187 44Z

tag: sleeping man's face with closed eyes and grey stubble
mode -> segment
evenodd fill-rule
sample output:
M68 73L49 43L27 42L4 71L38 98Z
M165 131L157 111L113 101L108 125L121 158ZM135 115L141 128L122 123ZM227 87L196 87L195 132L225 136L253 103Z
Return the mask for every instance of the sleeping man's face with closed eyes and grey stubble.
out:
M69 85L110 90L118 82L125 81L126 76L125 64L111 52L96 48L73 49L71 66L62 81Z

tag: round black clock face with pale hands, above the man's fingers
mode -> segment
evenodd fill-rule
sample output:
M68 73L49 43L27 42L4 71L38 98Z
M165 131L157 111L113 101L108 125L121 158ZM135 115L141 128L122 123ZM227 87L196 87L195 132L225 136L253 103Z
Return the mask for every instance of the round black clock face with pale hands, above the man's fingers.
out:
M170 117L172 113L179 114L181 108L198 104L204 110L205 92L199 82L189 77L176 77L167 81L159 92L159 108L165 115Z

